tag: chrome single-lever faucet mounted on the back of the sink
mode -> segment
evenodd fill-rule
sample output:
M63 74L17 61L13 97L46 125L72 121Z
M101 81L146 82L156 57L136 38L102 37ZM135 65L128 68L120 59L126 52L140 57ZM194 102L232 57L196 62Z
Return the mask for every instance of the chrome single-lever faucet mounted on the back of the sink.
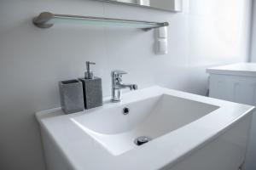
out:
M130 88L131 90L137 89L137 84L123 84L122 75L127 74L125 71L111 71L112 77L112 101L119 102L122 99L121 89Z

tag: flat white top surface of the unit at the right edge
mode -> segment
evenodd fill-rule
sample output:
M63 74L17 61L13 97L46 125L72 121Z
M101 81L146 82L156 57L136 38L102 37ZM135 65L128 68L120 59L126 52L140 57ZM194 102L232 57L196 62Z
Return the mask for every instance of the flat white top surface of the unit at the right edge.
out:
M256 63L237 63L207 69L208 73L256 77Z

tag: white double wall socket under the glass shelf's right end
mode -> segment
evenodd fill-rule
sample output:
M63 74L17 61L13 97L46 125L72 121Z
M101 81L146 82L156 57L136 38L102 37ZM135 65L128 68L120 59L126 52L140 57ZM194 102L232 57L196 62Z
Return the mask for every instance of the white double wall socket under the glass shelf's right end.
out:
M168 54L167 27L155 29L155 54Z

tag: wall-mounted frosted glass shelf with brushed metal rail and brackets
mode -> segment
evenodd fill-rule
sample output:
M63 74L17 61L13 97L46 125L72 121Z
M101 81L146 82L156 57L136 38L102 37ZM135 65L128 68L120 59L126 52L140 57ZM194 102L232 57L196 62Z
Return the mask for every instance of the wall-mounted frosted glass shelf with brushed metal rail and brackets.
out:
M79 16L68 14L52 14L49 12L43 12L34 18L33 24L39 28L49 28L58 23L77 23L85 25L96 26L119 26L119 27L131 27L140 28L144 31L151 30L153 28L159 28L163 26L169 26L168 22L150 22L143 20L122 20L103 17L92 16Z

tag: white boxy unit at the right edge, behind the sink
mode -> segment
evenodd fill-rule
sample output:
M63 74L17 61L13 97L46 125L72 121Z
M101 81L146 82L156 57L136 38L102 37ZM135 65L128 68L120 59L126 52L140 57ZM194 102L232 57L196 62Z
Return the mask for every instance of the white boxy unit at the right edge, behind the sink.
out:
M239 63L207 69L210 73L209 96L236 103L256 105L256 64ZM247 148L246 170L256 169L256 115L252 120Z

